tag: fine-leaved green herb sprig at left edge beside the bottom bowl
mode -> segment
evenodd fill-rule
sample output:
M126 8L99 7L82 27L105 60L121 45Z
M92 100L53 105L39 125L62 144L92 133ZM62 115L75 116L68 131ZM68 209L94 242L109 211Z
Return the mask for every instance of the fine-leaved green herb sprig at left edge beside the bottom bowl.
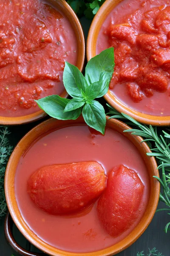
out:
M6 163L11 154L12 147L9 144L8 140L8 131L7 127L2 127L0 129L0 218L6 214L7 206L4 192L4 175L6 170Z

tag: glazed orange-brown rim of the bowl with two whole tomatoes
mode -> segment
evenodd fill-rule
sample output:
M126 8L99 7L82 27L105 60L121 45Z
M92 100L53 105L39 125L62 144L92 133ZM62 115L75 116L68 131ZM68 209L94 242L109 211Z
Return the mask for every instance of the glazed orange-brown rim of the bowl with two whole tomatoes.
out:
M43 127L45 127L45 126L48 128L48 133L50 133L51 131L54 131L55 128L52 128L52 130L49 129L49 125L51 125L51 124L53 125L53 122L54 122L54 125L57 125L57 124L59 125L61 120L56 120L56 119L51 118L51 119L48 119L48 120L40 123L39 125L35 126L33 129L31 129L31 131L29 131L20 140L20 142L14 148L14 151L11 154L11 157L9 158L9 161L8 161L8 164L7 164L7 167L6 167L6 175L5 175L5 194L6 194L6 202L7 202L8 210L11 214L11 217L12 217L15 225L20 230L20 232L23 234L23 236L25 236L26 239L31 242L31 244L34 244L35 247L39 248L40 250L42 250L45 253L48 253L49 255L52 255L52 256L65 256L65 255L67 255L67 256L109 256L109 255L113 255L115 253L119 253L120 251L129 247L134 241L136 241L136 239L138 239L139 236L141 236L141 234L144 232L144 230L146 230L146 228L150 224L150 221L152 220L153 215L156 212L157 204L159 202L160 184L159 184L158 180L155 179L156 180L156 185L154 187L154 194L153 194L153 198L152 198L153 203L150 206L150 208L151 208L150 212L148 213L147 217L143 221L144 222L143 226L140 228L140 230L137 230L137 232L135 234L130 236L131 233L133 232L133 230L132 230L132 232L130 232L130 234L126 237L127 241L126 241L125 244L123 242L126 238L122 239L117 244L114 244L111 247L107 247L103 250L98 250L98 251L90 252L90 253L70 253L70 252L67 252L67 251L59 250L59 249L45 243L42 239L38 238L38 236L36 236L33 231L31 231L31 229L26 224L26 221L24 221L24 219L23 219L23 217L20 213L20 210L18 208L17 200L15 198L14 184L12 184L12 186L11 186L11 182L10 182L10 177L12 175L15 175L15 172L16 172L16 169L17 169L17 167L15 167L15 169L12 168L12 165L13 164L15 164L15 165L18 164L18 162L20 160L20 157L22 156L23 152L25 152L22 149L23 145L26 145L25 147L27 149L33 143L32 137L31 137L31 142L30 142L30 140L28 140L28 138L30 138L31 134L37 134L37 135L34 135L34 137L38 136L37 138L39 138L40 136L42 136L42 134L45 134L47 132L47 131L45 132L44 130L42 131ZM74 122L76 124L79 124L79 125L82 124L82 123L83 124L85 123L82 116L80 116ZM123 122L121 122L117 119L108 120L108 117L107 117L107 122L108 122L108 126L109 126L109 124L111 124L111 125L113 124L115 129L116 129L116 127L119 126L119 131L123 131L123 130L129 128L129 126L127 126L126 124L124 124ZM71 121L69 120L69 122L67 120L67 122L63 122L63 125L59 125L59 128L69 126L71 124L73 125L73 120L71 120ZM57 126L56 126L56 129L57 129ZM113 127L112 127L112 129L113 129ZM141 145L140 143L142 142L141 137L132 135L130 133L126 133L126 134L128 134L128 135L125 135L125 136L127 136L127 139L131 138L133 140L133 142L131 142L131 143L134 143L134 144L136 143L138 145L138 147L136 146L136 148L142 147L142 148L144 148L145 153L150 152L150 149L149 149L149 147L147 146L147 144L145 142L142 143L142 146L140 146ZM19 157L16 160L17 155ZM141 157L142 157L142 155L141 155ZM144 157L142 157L142 158L144 159ZM146 156L146 158L148 158L148 157ZM152 170L150 172L152 174L154 173L154 175L159 177L159 172L157 170L157 164L156 164L155 158L154 157L149 157L148 161L150 161L150 166L152 166ZM147 167L147 169L148 169L148 167ZM151 177L148 177L148 178L151 181ZM11 192L11 190L12 190L12 192ZM150 196L150 198L151 198L151 196ZM146 210L147 210L147 208L146 208ZM145 212L146 212L146 210L145 210ZM142 218L143 218L143 216L142 216ZM139 222L139 224L140 224L140 222ZM137 226L139 224L137 224ZM135 229L136 229L136 227L134 228L134 230ZM122 243L123 243L123 245L122 245Z

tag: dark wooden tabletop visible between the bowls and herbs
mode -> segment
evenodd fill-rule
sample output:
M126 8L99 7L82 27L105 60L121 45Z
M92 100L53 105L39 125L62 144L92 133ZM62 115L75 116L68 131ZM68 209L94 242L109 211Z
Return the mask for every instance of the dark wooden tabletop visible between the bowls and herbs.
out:
M81 19L83 29L85 32L85 38L87 38L88 29L90 27L90 21L85 18ZM103 102L102 102L103 103ZM16 145L17 142L22 138L31 128L33 128L39 122L34 122L29 125L21 125L11 127L11 143ZM158 208L165 207L163 203L159 203ZM14 256L19 256L19 254L13 252L11 247L5 241L4 237L4 220L5 217L0 220L0 256L11 256L14 253ZM152 222L150 223L147 230L142 234L142 236L129 248L117 256L136 256L136 253L144 250L145 255L147 256L148 248L156 247L164 256L170 256L170 231L165 234L164 227L167 222L170 221L170 215L167 215L167 212L157 212L153 217ZM28 241L20 234L16 227L13 228L14 237L16 241L22 245L27 250L32 250L38 252L38 250L30 245Z

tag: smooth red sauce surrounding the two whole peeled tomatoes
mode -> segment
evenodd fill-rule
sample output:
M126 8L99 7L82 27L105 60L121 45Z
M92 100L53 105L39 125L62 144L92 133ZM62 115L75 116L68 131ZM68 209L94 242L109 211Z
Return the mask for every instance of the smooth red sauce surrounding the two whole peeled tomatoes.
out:
M102 228L97 201L87 214L74 217L48 215L31 201L27 182L33 172L47 165L81 161L99 162L106 174L120 164L138 172L144 184L139 215L121 236L113 238ZM31 230L49 244L76 253L100 250L125 238L144 213L149 189L147 169L136 147L113 130L106 129L105 136L95 135L86 125L65 127L40 138L20 159L15 176L17 204Z

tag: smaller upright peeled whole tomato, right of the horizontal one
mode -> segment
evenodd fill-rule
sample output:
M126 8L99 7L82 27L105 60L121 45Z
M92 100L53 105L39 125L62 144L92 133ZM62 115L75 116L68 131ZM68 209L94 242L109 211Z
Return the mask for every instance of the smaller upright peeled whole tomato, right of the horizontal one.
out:
M143 191L137 173L126 166L115 167L109 173L97 211L102 227L111 236L120 236L136 221Z

